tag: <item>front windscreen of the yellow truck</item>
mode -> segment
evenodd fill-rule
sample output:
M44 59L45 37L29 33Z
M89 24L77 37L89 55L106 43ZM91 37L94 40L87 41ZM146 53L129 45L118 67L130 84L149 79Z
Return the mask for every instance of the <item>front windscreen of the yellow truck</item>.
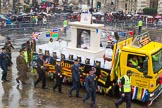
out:
M152 55L152 65L154 73L158 73L162 69L162 49Z

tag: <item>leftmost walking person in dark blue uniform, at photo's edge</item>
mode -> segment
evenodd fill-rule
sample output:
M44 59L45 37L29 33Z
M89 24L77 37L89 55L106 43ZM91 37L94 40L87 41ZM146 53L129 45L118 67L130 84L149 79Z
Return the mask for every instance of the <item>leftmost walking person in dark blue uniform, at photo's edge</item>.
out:
M8 59L7 59L6 49L2 48L2 52L0 54L0 66L3 70L2 78L1 78L2 81L8 81L6 79L7 78L7 67L8 67L7 62L8 62Z

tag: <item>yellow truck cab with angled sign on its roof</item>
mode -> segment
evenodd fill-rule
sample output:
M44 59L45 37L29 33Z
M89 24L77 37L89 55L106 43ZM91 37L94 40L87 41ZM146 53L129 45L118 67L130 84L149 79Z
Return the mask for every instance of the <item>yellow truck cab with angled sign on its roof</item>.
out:
M127 70L131 70L132 99L151 105L162 92L162 44L151 41L149 34L144 33L134 39L119 42L115 49L119 50L118 56L113 57L115 66L111 71L111 80L115 76L120 78ZM129 65L129 59L133 56L140 58L138 67Z

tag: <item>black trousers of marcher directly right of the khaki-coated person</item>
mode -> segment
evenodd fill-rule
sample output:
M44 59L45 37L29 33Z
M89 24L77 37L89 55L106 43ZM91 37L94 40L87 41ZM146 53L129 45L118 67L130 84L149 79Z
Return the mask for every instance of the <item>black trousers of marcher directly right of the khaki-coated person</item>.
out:
M38 72L38 79L35 82L35 86L42 80L42 88L46 87L46 74L44 71Z

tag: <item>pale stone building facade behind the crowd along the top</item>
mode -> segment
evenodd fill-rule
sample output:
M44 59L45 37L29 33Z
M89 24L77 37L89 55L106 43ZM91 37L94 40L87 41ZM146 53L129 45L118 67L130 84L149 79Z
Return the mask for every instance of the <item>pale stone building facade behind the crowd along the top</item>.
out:
M24 0L20 0L22 3ZM41 0L37 0L41 2ZM54 1L54 0L47 0ZM59 0L59 4L62 4ZM92 0L67 0L68 3L73 3L75 5L87 4L88 7L92 6ZM109 7L110 10L123 11L125 13L142 13L143 9L146 7L157 8L158 13L162 14L162 0L93 0L93 7L96 8L97 2L101 2L102 7ZM30 0L32 2L32 0Z

